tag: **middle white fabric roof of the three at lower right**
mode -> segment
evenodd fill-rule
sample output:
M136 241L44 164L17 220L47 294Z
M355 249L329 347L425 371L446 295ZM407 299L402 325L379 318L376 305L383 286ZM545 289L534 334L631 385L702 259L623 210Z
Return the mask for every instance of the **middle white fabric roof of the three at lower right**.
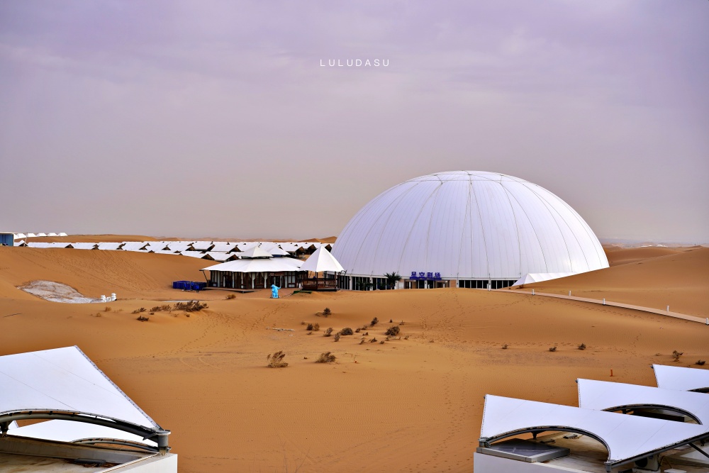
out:
M693 414L709 425L709 396L691 391L676 391L636 384L578 379L579 407L605 411L620 406L668 406Z

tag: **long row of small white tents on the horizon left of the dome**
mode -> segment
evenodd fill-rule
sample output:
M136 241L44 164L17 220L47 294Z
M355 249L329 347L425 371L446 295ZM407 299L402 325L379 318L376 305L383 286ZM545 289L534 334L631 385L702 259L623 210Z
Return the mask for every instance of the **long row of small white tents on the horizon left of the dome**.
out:
M29 242L24 240L15 246L34 248L74 248L75 250L123 250L163 255L182 255L226 262L245 256L253 248L259 248L274 257L309 255L324 247L331 250L330 243L319 242L223 242L223 241L143 241L143 242L106 242L106 243L62 243Z

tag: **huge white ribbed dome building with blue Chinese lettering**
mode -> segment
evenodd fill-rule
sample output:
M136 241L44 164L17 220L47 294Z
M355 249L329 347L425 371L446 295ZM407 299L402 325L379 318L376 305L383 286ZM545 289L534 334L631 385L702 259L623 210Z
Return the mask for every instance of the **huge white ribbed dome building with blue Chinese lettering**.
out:
M593 230L566 202L524 179L438 172L388 189L342 230L333 255L343 289L512 285L608 267ZM543 273L543 274L537 274Z

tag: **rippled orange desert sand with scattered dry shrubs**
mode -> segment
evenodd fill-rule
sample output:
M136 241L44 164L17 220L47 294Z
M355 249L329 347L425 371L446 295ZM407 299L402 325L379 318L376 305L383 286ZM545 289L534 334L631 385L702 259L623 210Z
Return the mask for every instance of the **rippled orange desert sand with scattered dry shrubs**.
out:
M709 249L608 255L613 267L534 286L709 316ZM576 405L577 377L653 386L650 365L674 364L673 350L684 352L676 365L709 358L705 325L505 290L281 291L277 300L268 291L226 299L228 291L208 290L199 294L208 303L201 312L136 320L137 308L194 298L169 283L201 280L208 265L171 255L0 248L0 355L78 345L172 430L185 473L470 472L484 394ZM60 304L16 288L37 279L119 299ZM332 316L317 316L325 307ZM362 332L339 342L323 336L375 316L362 345ZM320 331L308 335L302 322ZM392 325L401 339L379 343ZM578 350L581 343L588 348ZM266 367L277 350L288 367ZM313 362L325 351L337 361Z

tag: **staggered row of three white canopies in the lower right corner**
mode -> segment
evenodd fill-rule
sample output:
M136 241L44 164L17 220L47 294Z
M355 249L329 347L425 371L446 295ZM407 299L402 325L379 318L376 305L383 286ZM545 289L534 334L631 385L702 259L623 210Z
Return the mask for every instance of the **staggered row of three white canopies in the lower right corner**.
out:
M475 471L498 471L502 460L485 467L489 460L479 455L495 455L490 450L495 442L523 433L536 438L545 431L566 431L594 438L608 450L606 471L676 447L697 448L694 442L709 439L709 371L665 365L653 369L657 387L577 379L579 407L486 395ZM669 411L692 422L617 413L642 408Z

